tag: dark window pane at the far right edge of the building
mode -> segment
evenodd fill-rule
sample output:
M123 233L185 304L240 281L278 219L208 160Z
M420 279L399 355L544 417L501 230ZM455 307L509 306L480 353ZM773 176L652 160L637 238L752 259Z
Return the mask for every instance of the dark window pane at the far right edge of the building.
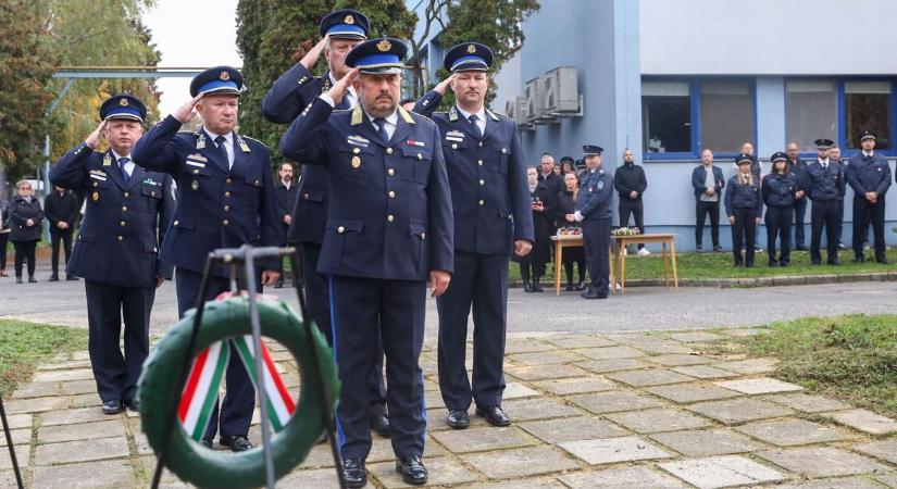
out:
M892 149L890 83L845 82L844 139L848 149L860 148L860 133L877 133L875 149Z

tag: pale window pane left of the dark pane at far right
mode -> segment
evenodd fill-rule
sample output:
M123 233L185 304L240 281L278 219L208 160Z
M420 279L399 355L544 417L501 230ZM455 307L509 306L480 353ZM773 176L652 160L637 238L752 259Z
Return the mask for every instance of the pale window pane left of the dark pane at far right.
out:
M837 141L837 103L835 82L788 80L785 85L788 142L797 142L801 153L814 153L817 139Z

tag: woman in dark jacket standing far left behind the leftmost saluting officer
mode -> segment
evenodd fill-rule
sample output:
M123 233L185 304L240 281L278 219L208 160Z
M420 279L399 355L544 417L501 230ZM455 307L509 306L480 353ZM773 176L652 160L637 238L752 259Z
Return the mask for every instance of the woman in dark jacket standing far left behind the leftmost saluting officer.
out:
M35 279L35 249L40 241L43 211L40 202L34 197L34 189L28 180L21 180L15 185L18 195L10 202L10 241L15 248L15 283L22 284L22 265L28 262L28 283Z

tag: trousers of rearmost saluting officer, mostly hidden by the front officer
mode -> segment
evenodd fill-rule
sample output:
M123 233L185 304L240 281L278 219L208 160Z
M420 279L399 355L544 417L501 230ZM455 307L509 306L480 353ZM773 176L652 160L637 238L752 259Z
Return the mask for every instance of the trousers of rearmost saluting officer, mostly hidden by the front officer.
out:
M327 277L317 273L317 259L321 256L321 244L314 242L302 243L302 277L306 281L306 305L309 308L312 321L333 346L333 326L331 325L331 296ZM377 340L379 342L379 339ZM370 417L386 415L386 386L383 384L383 346L378 344L379 354L377 364L370 372L370 388L374 392L367 410Z

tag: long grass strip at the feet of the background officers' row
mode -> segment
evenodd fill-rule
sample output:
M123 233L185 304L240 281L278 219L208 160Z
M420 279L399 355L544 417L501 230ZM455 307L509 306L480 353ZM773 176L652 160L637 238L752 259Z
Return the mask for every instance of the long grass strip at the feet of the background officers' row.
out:
M808 251L792 251L790 266L770 267L767 266L769 255L757 253L753 268L735 268L732 252L721 253L682 253L676 255L680 278L749 278L749 277L772 277L782 275L846 275L862 274L872 272L895 272L897 271L897 248L887 250L888 265L875 263L872 251L867 252L865 263L854 263L854 252L851 250L840 250L838 260L840 265L810 265L810 253ZM825 263L825 251L822 251L822 262ZM547 277L543 283L553 280L551 265L548 265ZM614 272L620 273L620 264L614 262ZM670 272L672 277L672 271ZM631 253L626 256L626 280L635 278L663 278L663 259L660 252L650 256L638 256ZM511 263L509 274L510 281L520 281L520 266ZM561 281L565 283L565 275L561 275Z

